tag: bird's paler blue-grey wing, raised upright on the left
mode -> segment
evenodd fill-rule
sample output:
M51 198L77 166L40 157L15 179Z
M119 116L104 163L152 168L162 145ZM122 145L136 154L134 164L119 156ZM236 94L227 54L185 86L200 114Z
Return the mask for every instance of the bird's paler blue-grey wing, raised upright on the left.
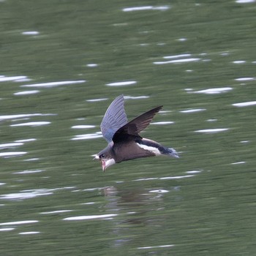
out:
M127 124L127 114L124 111L124 95L122 94L110 104L100 124L105 140L110 143L116 131L125 124Z

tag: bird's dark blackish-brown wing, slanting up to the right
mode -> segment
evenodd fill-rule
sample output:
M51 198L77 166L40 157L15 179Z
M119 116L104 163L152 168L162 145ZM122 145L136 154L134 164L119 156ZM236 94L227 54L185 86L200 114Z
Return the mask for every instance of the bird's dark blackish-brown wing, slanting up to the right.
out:
M141 138L139 133L145 129L148 124L150 124L154 118L154 115L159 112L161 108L162 106L159 106L157 108L148 110L146 113L143 113L142 115L132 119L132 121L129 121L129 123L124 124L124 126L119 128L115 135L113 135L113 142L115 143L119 140L129 140L136 137Z

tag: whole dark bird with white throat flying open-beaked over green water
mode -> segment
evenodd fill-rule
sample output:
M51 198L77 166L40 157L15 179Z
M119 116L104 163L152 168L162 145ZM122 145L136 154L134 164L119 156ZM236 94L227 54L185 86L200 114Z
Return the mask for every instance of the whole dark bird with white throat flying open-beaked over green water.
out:
M128 122L124 111L124 95L113 100L100 124L102 135L107 140L108 146L94 157L101 161L104 172L110 165L140 157L165 155L178 158L174 148L166 148L154 140L142 138L139 135L148 127L161 108L162 106L159 106L148 110Z

